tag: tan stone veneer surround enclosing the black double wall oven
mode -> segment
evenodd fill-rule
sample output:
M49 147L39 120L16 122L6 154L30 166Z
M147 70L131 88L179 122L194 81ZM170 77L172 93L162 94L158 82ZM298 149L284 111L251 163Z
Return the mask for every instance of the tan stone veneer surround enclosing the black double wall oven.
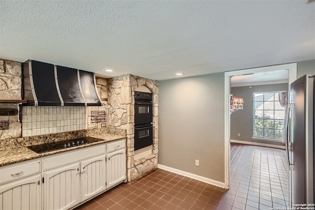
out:
M134 90L145 85L153 93L152 153L134 160ZM131 74L107 80L107 126L126 129L127 178L132 182L158 167L158 81Z

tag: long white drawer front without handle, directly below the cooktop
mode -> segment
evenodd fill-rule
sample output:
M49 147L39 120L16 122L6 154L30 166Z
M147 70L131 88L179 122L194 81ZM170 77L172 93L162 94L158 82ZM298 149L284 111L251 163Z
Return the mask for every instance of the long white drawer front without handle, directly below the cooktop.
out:
M70 163L79 162L86 158L94 157L101 154L105 154L105 144L95 147L77 149L74 151L68 151L64 154L57 154L54 157L44 159L44 171Z

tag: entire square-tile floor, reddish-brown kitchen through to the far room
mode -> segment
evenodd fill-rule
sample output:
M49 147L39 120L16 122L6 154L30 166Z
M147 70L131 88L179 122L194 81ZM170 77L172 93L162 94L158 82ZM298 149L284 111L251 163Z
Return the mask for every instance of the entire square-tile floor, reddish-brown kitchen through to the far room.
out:
M120 184L76 210L270 210L287 201L285 151L231 143L231 187L161 169Z

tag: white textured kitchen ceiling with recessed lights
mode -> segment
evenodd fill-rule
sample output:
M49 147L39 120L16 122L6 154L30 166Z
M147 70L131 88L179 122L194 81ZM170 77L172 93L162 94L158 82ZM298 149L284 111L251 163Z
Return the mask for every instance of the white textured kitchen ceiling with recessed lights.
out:
M163 80L315 59L314 1L1 0L0 14L0 58L104 77Z

